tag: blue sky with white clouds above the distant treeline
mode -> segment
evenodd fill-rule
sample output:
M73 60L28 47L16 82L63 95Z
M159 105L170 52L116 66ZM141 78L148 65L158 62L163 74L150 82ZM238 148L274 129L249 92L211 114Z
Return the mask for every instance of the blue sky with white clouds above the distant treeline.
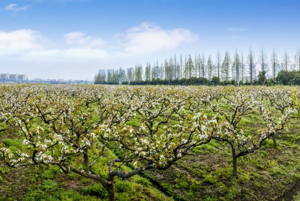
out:
M0 73L92 80L176 54L300 46L299 0L0 0Z

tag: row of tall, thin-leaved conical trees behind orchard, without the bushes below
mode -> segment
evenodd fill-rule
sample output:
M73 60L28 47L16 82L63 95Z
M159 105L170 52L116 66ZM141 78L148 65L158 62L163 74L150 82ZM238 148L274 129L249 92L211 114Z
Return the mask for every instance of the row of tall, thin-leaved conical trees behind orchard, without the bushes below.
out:
M122 69L114 70L112 75L110 71L101 75L98 74L95 76L95 80L97 80L97 83L111 83L113 80L117 83L128 83L150 82L152 80L172 81L195 77L211 81L212 77L216 77L218 80L225 82L235 80L236 83L253 83L259 72L264 72L267 78L275 81L275 77L280 70L300 70L299 48L294 55L294 62L291 62L286 49L281 61L279 61L275 49L272 49L270 59L268 59L263 48L260 50L257 60L255 60L251 48L247 55L236 50L232 59L228 50L225 51L223 58L218 51L215 61L211 55L207 57L206 61L204 53L194 54L194 56L180 54L179 58L174 55L160 64L158 60L152 64L147 62L144 68L141 64L136 64L135 67L127 68L126 71Z

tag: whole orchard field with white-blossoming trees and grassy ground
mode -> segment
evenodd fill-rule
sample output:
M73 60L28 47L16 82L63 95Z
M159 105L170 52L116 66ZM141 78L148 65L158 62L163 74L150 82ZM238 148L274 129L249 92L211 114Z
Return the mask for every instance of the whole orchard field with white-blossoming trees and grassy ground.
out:
M300 199L295 86L0 85L0 200Z

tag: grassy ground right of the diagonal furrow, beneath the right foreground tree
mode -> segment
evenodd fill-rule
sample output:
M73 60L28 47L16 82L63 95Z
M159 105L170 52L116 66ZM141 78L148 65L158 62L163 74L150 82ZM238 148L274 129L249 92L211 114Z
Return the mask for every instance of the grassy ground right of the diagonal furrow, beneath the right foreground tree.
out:
M251 122L249 127L254 129L255 121ZM215 140L194 148L171 168L145 175L176 200L299 199L299 116L290 119L287 127L289 130L279 135L278 148L266 140L261 149L239 157L236 177L232 175L230 146Z

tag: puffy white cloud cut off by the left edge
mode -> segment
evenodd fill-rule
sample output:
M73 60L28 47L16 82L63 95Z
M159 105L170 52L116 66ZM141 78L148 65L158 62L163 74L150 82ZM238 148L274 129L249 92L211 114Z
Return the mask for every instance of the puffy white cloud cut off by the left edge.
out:
M0 31L0 50L21 51L39 49L45 39L32 29Z

